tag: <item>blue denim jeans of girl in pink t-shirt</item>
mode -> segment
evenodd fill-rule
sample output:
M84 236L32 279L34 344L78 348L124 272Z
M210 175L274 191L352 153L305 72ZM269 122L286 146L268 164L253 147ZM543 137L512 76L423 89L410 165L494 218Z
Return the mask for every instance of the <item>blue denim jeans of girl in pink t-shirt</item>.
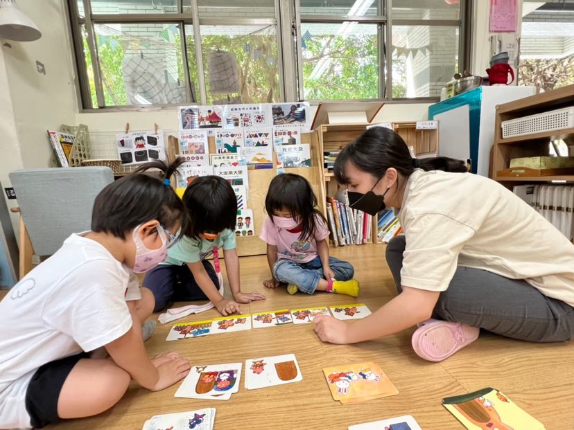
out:
M334 257L329 257L329 266L335 272L336 280L349 280L355 274L355 269L349 262ZM273 276L281 283L297 285L299 291L307 294L313 294L319 280L324 278L323 266L319 256L306 263L279 258L273 265Z

